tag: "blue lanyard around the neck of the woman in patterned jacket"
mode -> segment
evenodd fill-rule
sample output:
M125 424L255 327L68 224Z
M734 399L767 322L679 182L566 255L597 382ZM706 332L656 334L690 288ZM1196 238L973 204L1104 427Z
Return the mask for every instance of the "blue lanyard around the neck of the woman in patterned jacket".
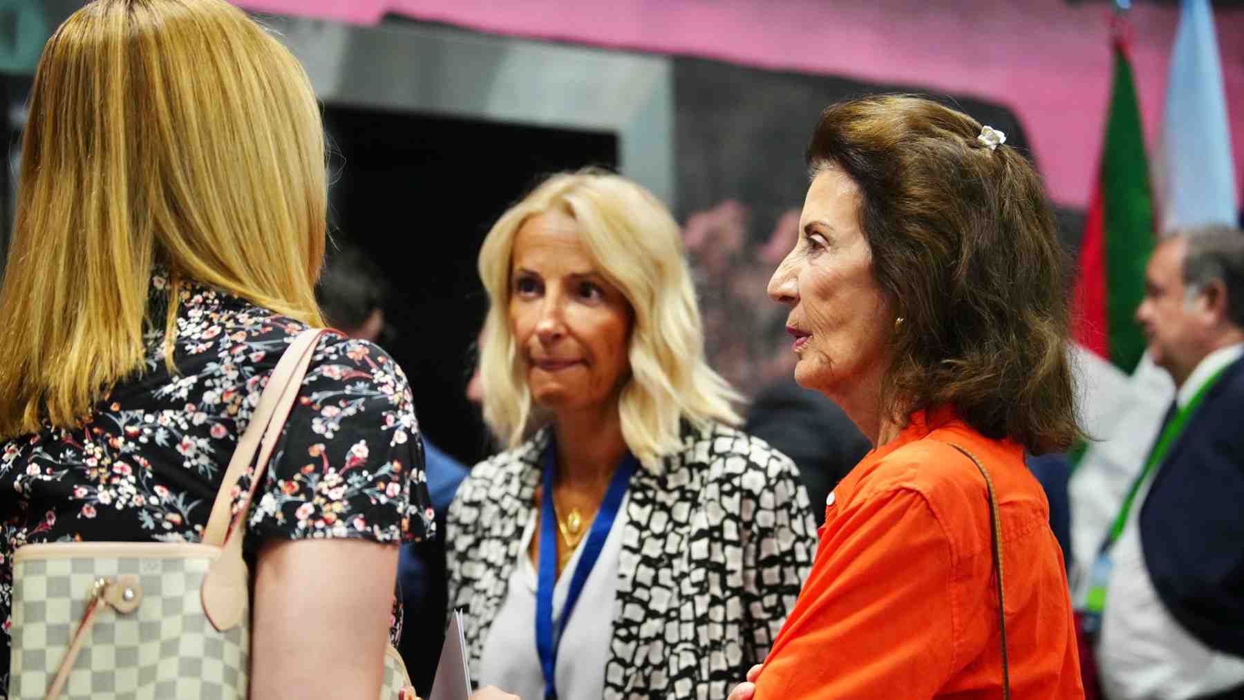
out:
M637 466L638 461L628 453L622 459L622 464L613 471L610 487L605 492L605 500L592 520L587 541L583 542L583 553L578 557L575 573L570 578L566 604L561 609L561 624L554 629L552 591L557 586L557 513L552 507L552 477L557 470L557 445L550 438L549 446L545 449L544 494L540 497L540 574L536 584L536 652L540 653L540 668L545 675L545 700L556 700L557 698L554 670L557 665L557 647L561 645L561 633L566 629L575 603L578 602L578 594L583 592L587 574L592 572L596 560L601 556L601 550L605 548L605 538L608 537L610 530L613 527L613 520L618 515L622 497L626 496L627 486L631 485L631 476Z

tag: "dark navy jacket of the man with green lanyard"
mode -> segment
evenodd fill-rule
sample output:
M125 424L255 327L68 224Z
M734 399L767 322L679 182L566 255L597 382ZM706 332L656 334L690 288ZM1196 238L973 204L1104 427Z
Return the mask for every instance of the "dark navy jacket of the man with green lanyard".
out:
M1167 610L1244 656L1244 359L1229 364L1158 469L1141 548Z

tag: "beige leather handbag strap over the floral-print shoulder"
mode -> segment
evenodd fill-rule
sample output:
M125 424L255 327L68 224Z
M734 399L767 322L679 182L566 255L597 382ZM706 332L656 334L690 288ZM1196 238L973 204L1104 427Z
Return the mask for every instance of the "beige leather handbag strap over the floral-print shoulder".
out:
M315 353L316 342L321 333L326 331L312 328L299 333L290 347L286 348L281 361L267 379L267 387L260 397L259 408L251 424L246 428L243 440L225 470L225 477L216 494L216 502L213 505L211 517L224 518L225 526L209 520L209 530L204 531L204 542L216 545L220 541L220 531L224 531L223 550L211 563L207 576L203 578L203 588L199 594L203 601L203 612L218 630L224 632L241 623L246 610L246 602L250 597L250 587L246 564L241 556L243 533L246 528L246 520L250 512L250 504L255 499L255 492L264 482L267 470L267 460L272 455L276 440L281 436L285 419L294 407L294 400L299 395L302 378L311 364L311 356ZM255 448L259 446L259 458L255 460ZM250 482L250 490L243 496L239 515L230 518L230 492L233 485L238 482L248 465L255 464L255 474ZM224 501L224 505L221 505ZM223 513L218 516L218 512ZM229 525L229 521L233 521ZM214 526L214 527L213 527ZM208 537L213 537L209 540Z

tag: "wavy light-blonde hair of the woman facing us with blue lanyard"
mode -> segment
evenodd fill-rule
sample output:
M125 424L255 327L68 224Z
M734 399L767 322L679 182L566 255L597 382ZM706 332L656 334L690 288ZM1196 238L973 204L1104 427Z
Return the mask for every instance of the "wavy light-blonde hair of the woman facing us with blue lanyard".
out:
M631 373L618 413L627 448L653 464L682 445L682 420L740 421L739 394L704 359L704 331L678 224L652 193L620 175L552 175L493 225L479 252L489 312L480 348L484 420L509 448L547 421L535 410L508 322L514 237L530 216L564 211L601 275L634 312Z

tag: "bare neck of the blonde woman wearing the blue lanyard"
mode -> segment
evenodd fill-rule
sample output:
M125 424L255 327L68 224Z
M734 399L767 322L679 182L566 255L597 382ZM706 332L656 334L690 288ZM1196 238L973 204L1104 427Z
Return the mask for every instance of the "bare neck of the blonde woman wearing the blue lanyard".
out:
M603 495L627 454L617 404L557 414L552 426L557 435L559 481Z

